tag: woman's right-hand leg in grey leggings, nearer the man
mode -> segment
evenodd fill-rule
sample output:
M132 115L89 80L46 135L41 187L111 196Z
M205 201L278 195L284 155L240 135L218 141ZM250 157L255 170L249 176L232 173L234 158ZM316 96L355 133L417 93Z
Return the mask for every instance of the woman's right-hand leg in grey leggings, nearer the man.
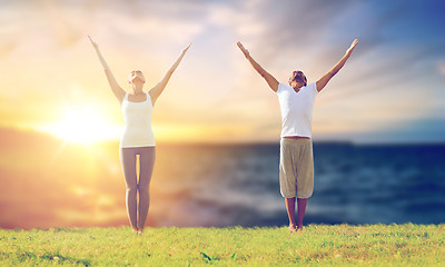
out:
M147 220L148 207L150 205L150 180L155 166L156 147L144 147L140 149L139 172L139 230L144 230Z

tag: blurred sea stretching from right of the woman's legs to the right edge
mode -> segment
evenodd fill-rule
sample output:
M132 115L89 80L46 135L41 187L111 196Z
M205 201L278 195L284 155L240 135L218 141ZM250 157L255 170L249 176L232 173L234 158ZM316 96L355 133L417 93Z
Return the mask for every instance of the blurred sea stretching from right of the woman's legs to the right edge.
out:
M445 222L445 145L314 144L305 224ZM279 145L158 146L158 226L283 226ZM156 218L156 210L168 210Z

